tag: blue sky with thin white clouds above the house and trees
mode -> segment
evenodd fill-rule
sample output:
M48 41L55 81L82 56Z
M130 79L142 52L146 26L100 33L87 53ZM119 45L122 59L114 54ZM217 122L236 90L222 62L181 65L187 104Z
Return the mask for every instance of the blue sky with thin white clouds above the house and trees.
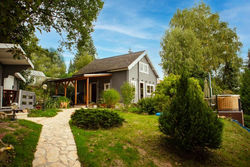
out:
M199 0L105 0L92 33L98 58L147 50L162 78L160 42L177 9L190 8ZM240 56L250 48L250 0L204 0L221 20L229 23L243 43ZM40 45L57 48L61 37L55 32L36 33ZM74 53L63 53L66 65Z

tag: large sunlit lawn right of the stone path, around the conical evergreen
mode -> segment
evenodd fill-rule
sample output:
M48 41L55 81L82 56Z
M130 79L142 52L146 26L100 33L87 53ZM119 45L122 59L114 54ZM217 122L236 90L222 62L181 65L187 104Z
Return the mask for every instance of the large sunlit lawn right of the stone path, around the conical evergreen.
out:
M236 123L224 123L223 143L218 150L200 156L183 152L166 140L158 129L158 117L119 114L120 128L83 130L71 124L77 153L83 166L248 166L250 134ZM201 158L203 157L203 158ZM206 157L206 158L204 158Z

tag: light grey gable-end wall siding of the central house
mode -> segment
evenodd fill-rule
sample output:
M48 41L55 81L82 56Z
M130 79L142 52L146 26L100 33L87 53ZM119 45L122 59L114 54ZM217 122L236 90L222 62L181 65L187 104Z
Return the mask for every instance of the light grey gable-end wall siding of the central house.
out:
M143 62L148 64L149 67L149 73L142 73L139 72L139 63ZM147 59L145 57L143 57L133 68L131 68L129 70L129 82L131 81L136 81L136 94L135 94L135 102L138 102L138 100L140 99L140 82L144 83L144 97L150 97L151 95L147 94L147 84L152 84L154 85L154 87L156 87L157 84L157 76L155 75L155 73L153 72L151 66L149 65L149 62L147 61Z

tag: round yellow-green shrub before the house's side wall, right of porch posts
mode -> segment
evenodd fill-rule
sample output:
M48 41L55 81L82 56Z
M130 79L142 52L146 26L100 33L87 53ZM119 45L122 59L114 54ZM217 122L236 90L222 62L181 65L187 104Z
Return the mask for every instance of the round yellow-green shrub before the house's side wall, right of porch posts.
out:
M102 94L103 102L108 108L114 107L120 100L120 94L115 89L105 90Z

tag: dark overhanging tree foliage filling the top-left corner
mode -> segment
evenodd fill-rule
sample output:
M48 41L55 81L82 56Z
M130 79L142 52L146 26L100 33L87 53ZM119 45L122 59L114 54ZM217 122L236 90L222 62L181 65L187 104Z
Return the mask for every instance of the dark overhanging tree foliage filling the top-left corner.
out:
M22 47L35 30L55 29L66 40L62 46L85 46L93 31L92 22L103 7L102 0L8 0L0 1L0 42Z

